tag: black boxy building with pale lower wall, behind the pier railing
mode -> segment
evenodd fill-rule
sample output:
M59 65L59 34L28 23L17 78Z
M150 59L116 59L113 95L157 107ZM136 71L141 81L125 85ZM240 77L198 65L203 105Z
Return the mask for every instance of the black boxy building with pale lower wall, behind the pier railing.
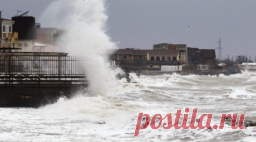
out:
M20 16L12 17L13 32L18 32L19 36L19 48L18 52L35 52L35 40L36 38L36 22L35 18L27 16L27 13L23 13Z

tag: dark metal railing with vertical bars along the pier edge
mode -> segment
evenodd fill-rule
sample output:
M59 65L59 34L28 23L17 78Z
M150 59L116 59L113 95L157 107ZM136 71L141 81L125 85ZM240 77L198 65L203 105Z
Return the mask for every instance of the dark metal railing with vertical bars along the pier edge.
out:
M0 86L86 84L86 57L0 56Z

